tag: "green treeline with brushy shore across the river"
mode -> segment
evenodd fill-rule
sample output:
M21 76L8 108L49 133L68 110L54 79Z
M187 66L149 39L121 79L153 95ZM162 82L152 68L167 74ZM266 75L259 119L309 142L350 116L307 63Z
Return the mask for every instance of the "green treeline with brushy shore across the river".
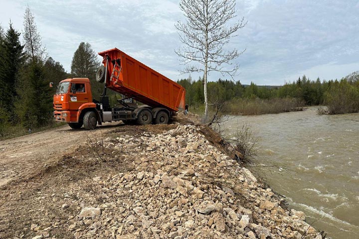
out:
M204 111L202 79L177 81L186 89L190 110ZM284 86L242 85L239 81L208 82L208 102L213 111L220 107L224 114L260 115L303 110L305 106L327 106L324 114L359 112L359 72L341 80L316 81L305 75Z

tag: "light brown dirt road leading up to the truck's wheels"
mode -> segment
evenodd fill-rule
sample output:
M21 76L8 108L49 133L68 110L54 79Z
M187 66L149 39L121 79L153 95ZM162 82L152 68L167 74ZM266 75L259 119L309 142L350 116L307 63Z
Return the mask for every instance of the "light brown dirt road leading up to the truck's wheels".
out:
M124 125L119 122L106 123L96 133ZM0 186L21 178L30 177L34 170L46 167L74 145L84 144L91 131L71 129L63 126L51 130L0 141Z

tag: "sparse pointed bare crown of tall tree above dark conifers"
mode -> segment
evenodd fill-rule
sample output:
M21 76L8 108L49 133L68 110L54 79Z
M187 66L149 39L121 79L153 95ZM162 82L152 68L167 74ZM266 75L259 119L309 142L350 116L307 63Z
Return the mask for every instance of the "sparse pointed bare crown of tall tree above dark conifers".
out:
M37 31L35 17L32 14L30 7L27 6L23 16L23 39L25 43L26 53L31 56L33 61L44 61L47 57L46 47L42 46L41 36Z

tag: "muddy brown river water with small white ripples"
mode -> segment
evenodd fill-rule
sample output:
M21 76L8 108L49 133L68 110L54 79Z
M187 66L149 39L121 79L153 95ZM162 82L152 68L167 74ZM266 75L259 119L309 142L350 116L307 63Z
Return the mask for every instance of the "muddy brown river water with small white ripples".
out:
M278 165L266 180L289 207L328 237L359 239L359 113L319 116L316 109L231 117L225 134L250 124L256 160Z

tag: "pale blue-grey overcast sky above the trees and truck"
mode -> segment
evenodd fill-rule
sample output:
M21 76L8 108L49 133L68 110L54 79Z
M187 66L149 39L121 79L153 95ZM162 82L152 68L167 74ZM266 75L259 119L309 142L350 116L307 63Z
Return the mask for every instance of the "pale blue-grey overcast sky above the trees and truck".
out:
M187 77L174 52L179 0L0 0L2 27L11 18L22 30L26 4L49 55L68 72L85 41L96 52L117 47L172 80ZM236 60L242 84L283 85L304 74L340 79L359 70L359 0L237 0L236 7L248 24L228 47L246 48Z

